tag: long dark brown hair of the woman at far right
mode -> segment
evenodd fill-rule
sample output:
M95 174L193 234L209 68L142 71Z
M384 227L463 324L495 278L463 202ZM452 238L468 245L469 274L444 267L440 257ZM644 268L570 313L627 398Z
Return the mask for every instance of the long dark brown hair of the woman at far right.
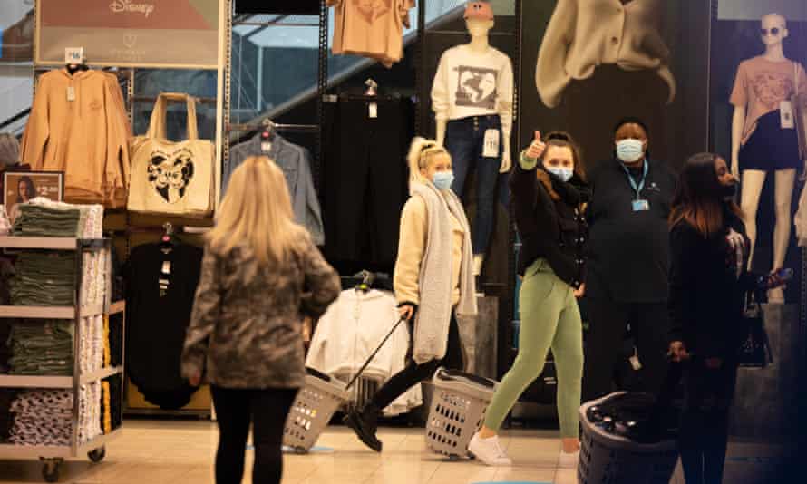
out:
M723 229L726 202L715 170L719 158L714 153L698 153L686 160L673 198L670 227L683 221L704 237L714 236ZM743 217L742 210L734 202L729 202L729 208L738 217Z

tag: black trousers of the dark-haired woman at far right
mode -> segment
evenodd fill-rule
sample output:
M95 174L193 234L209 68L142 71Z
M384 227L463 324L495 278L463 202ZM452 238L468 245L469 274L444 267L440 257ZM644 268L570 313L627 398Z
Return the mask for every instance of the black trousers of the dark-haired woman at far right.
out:
M678 431L686 484L721 484L737 364L724 362L712 370L695 358L686 366L685 404Z

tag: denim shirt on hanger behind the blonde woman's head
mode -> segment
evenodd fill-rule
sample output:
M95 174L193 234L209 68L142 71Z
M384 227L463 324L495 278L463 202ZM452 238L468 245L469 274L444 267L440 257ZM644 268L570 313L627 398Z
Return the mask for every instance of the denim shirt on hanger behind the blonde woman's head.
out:
M308 229L317 246L325 245L325 229L322 225L322 211L314 188L308 150L284 140L275 133L272 148L268 153L260 149L258 133L250 140L232 147L229 151L229 165L221 177L221 194L227 192L229 177L238 166L250 156L265 155L277 163L286 175L295 221Z

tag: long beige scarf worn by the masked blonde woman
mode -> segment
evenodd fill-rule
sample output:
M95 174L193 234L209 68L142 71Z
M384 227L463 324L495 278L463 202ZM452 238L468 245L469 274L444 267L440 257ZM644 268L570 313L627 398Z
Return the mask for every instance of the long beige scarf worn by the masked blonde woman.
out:
M442 359L448 347L453 289L451 215L460 221L465 234L460 267L460 300L456 312L461 316L477 313L472 273L471 230L462 202L451 190L441 192L431 183L413 183L412 193L413 197L423 198L428 213L425 249L419 264L420 301L413 336L413 359L416 363L426 363ZM405 235L402 234L401 237Z

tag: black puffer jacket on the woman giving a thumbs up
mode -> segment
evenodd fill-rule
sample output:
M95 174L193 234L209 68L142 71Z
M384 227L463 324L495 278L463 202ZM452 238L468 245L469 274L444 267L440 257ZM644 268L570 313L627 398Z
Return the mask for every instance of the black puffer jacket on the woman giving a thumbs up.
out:
M522 153L510 175L516 227L521 238L519 274L543 257L562 281L574 288L586 280L585 244L588 227L583 215L588 202L586 183L575 175L568 183L538 163L533 169Z

